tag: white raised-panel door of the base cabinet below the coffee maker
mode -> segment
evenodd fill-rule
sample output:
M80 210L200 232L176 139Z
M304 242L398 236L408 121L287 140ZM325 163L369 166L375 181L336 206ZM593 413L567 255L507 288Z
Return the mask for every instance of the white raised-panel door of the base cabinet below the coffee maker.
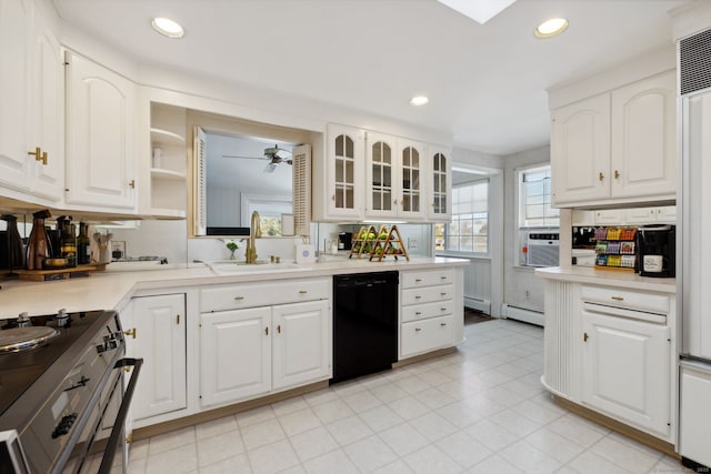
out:
M583 312L582 402L669 435L669 329Z

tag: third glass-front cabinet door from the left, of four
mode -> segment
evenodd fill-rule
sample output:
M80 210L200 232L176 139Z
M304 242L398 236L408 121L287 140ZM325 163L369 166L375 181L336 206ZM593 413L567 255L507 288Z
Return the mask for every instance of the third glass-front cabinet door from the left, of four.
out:
M399 140L400 193L395 196L398 216L421 219L425 214L422 171L424 170L424 144Z

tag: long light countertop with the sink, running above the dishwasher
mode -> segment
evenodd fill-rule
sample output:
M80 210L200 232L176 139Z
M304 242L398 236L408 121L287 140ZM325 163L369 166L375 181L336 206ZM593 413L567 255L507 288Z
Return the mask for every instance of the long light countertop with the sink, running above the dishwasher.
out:
M88 278L51 282L10 280L0 282L0 320L17 317L23 311L30 316L53 314L59 309L69 312L120 310L136 293L172 289L190 290L197 285L274 281L346 273L389 270L423 270L433 265L463 266L465 259L412 258L410 261L368 259L332 259L327 262L291 265L260 265L258 271L217 275L204 264L160 265L159 270L94 272ZM110 266L110 264L109 264Z

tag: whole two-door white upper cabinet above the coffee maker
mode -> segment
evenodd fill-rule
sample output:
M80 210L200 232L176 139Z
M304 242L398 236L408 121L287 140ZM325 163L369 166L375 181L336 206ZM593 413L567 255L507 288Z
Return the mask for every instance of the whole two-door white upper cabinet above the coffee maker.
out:
M553 110L553 205L674 200L674 101L669 71Z

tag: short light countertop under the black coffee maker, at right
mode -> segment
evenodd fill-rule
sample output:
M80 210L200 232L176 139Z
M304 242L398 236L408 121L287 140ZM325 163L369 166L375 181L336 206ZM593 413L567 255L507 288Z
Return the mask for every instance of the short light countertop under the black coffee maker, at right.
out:
M549 266L535 269L535 275L548 280L590 283L659 293L677 293L677 279L640 276L639 273L621 270L594 269L591 266Z

